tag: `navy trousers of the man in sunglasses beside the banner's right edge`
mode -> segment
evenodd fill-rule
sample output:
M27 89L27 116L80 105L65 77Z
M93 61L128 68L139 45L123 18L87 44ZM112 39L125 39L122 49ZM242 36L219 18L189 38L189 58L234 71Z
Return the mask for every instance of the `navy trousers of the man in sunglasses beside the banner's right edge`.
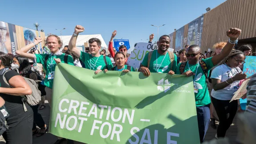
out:
M196 107L198 130L200 142L204 142L204 136L208 130L210 123L210 104L201 107Z

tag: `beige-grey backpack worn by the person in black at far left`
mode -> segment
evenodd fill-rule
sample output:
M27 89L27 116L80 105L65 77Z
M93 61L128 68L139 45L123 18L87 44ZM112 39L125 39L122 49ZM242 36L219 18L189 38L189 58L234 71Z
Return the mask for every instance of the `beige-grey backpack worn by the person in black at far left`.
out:
M6 72L8 72L8 71L6 71ZM8 81L6 80L6 78L4 76L6 72L4 72L4 74L3 74L3 79L4 79L4 82L10 86L10 84L8 83ZM36 84L36 82L40 82L40 80L32 80L32 79L28 79L26 77L23 77L23 78L27 82L29 87L32 89L32 94L31 95L21 96L22 97L21 100L23 102L24 112L26 112L27 108L25 106L25 101L27 101L27 103L29 105L34 106L34 105L37 105L39 103L39 101L41 100L41 92L38 89L38 85Z

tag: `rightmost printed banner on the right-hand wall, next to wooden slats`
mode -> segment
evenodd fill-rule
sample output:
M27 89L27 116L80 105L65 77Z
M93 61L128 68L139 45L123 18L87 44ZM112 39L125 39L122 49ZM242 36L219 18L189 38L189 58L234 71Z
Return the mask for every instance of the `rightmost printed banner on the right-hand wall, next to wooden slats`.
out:
M201 47L204 16L200 16L188 24L188 45L197 44Z

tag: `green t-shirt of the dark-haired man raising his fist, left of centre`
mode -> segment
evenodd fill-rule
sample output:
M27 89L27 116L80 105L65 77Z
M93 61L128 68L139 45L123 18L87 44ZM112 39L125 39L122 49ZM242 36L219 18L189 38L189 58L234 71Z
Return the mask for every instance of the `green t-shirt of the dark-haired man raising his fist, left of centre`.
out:
M86 52L81 51L80 60L84 62L85 68L87 69L91 69L94 71L96 71L97 69L101 69L103 71L107 68L102 55L100 55L99 57L94 57ZM106 62L108 64L108 70L113 68L112 62L108 56L106 56Z

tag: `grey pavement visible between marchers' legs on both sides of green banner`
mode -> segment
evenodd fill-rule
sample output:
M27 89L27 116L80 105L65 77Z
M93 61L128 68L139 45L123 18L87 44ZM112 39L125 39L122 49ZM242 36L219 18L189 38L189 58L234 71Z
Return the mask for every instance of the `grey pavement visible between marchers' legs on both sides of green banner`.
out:
M45 100L46 107L43 110L39 110L40 114L42 115L44 122L49 125L49 120L50 120L50 107L47 103L47 100ZM216 121L216 125L218 126L218 122ZM230 126L228 129L228 132L226 136L230 139L236 139L237 136L237 120L236 117L233 120L233 124ZM215 139L216 135L216 129L213 129L209 126L208 131L206 133L204 141L212 140ZM56 142L57 137L52 135L51 133L47 132L43 136L36 137L33 136L33 144L53 144ZM82 143L75 143L75 144L82 144Z

